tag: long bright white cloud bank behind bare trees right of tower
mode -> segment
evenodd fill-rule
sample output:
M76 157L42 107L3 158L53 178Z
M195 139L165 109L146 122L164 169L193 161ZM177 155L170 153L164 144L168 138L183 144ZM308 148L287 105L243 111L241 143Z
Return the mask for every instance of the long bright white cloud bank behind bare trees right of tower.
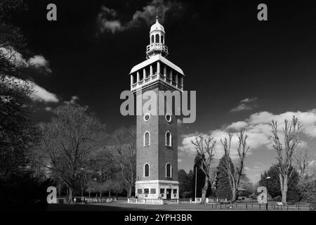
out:
M308 110L307 112L286 112L274 115L269 112L260 112L250 115L244 121L233 122L232 124L223 127L222 129L216 129L209 131L207 134L198 133L186 134L181 136L182 143L179 146L180 151L195 154L194 145L191 141L195 141L198 136L213 136L216 140L216 155L215 158L221 158L223 156L223 146L221 146L220 139L225 139L228 134L232 136L231 157L235 159L237 157L238 137L237 132L246 128L246 135L248 135L247 145L250 147L249 154L260 146L272 149L271 127L270 123L275 120L279 124L279 134L282 136L282 127L284 126L284 120L291 120L293 116L298 118L298 122L303 125L302 134L307 136L316 137L316 109ZM282 139L282 138L281 138Z

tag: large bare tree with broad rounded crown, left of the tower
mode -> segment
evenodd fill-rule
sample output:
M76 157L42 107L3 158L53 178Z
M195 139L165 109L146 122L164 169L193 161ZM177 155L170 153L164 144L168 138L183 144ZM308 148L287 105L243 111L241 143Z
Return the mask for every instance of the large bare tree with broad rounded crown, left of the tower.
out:
M64 105L55 110L55 117L43 127L43 146L50 163L48 169L72 191L80 185L84 173L91 167L90 156L103 136L103 125L87 107Z

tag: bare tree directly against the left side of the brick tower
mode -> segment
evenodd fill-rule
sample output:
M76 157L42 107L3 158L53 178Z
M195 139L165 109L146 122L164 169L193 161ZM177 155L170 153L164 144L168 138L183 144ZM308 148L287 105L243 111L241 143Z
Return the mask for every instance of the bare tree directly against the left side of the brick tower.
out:
M114 141L114 157L121 170L121 177L128 189L127 198L131 198L136 181L136 129L121 128L112 135Z

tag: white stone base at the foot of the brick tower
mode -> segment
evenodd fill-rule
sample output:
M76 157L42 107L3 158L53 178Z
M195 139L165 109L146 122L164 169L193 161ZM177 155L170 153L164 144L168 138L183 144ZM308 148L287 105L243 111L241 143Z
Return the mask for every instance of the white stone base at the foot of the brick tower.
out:
M136 196L145 199L179 199L179 182L168 180L136 181Z

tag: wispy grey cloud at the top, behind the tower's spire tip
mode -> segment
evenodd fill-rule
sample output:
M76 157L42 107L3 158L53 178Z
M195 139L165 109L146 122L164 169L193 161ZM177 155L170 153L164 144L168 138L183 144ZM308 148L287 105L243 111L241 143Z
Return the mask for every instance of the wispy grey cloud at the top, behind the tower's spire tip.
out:
M159 21L164 23L164 18L168 11L174 9L180 12L183 11L184 6L176 1L153 0L147 6L144 6L142 10L133 13L131 20L125 23L118 18L119 13L116 10L102 6L97 16L99 32L112 32L114 34L115 32L138 27L144 21L147 25L151 25L156 17L156 8L159 12Z

